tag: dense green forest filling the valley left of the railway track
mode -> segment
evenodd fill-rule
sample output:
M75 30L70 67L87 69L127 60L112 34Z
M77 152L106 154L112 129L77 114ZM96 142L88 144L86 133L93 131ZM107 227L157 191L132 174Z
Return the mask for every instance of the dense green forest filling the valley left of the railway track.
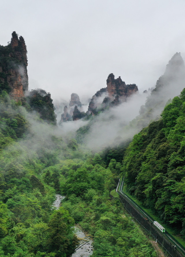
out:
M93 256L156 256L119 198L109 197L124 150L92 154L62 138L52 119L42 119L44 96L37 99L33 109L30 99L0 95L0 256L70 256L75 223L94 236ZM55 193L66 195L59 210Z

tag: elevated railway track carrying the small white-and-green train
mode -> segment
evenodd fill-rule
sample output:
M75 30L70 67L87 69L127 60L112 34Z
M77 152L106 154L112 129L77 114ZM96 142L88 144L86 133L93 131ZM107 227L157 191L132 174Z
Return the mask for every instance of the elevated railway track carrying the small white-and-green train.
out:
M169 232L167 232L167 230L165 230L165 233L162 233L154 226L154 219L123 192L123 185L124 177L122 177L121 181L119 179L116 192L118 192L120 200L130 215L144 227L155 238L156 242L158 242L171 256L185 257L185 248Z

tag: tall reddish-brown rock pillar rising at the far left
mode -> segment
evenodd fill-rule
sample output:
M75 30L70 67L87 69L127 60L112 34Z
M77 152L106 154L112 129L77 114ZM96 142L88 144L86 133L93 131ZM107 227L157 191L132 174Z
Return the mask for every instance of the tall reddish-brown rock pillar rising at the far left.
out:
M28 90L27 50L22 36L14 31L9 45L0 45L0 91L18 101Z

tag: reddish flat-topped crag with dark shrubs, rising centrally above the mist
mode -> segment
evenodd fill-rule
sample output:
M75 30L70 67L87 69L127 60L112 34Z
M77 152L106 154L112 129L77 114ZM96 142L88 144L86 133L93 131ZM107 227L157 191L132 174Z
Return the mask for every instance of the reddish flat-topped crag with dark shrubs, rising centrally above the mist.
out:
M107 80L107 89L109 93L109 98L113 101L115 96L118 96L119 101L124 102L126 101L127 97L131 96L132 94L138 91L136 84L126 85L124 81L122 81L121 77L114 79L114 74L109 74ZM116 102L118 101L116 99Z

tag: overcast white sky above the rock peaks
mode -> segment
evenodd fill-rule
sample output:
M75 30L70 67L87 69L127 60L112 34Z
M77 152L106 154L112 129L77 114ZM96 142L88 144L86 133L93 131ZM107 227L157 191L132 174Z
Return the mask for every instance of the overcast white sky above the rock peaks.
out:
M142 92L155 85L175 52L185 57L184 0L7 0L0 44L23 36L29 89L83 102L110 73Z

